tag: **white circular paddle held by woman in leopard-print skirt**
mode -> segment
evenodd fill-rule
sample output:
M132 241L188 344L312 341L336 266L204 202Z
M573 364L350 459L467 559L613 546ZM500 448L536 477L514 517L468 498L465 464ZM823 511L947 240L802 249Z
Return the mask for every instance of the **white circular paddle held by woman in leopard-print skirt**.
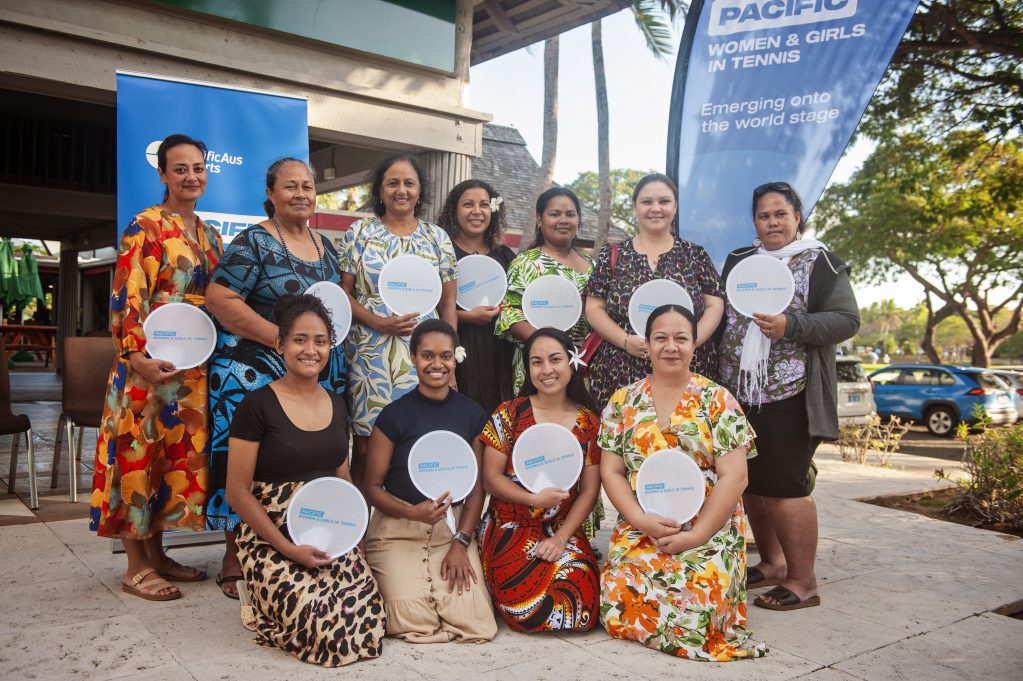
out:
M359 543L369 525L369 508L359 490L340 478L317 478L287 502L287 533L296 544L315 546L331 558Z

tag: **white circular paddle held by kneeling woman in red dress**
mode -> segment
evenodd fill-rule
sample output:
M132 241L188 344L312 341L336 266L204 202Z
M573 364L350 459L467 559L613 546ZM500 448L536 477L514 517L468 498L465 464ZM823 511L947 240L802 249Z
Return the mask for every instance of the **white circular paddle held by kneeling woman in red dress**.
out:
M561 423L535 423L515 443L511 468L530 492L552 487L567 490L582 472L582 446Z

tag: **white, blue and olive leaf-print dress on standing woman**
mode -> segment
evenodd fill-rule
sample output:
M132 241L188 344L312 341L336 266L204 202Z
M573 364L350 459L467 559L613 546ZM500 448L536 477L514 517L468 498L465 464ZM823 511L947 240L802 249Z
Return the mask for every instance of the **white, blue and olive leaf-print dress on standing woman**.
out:
M396 236L380 218L367 218L345 232L341 269L355 277L355 300L369 312L391 316L380 294L381 270L391 259L404 255L434 263L442 283L455 280L454 247L437 225L420 222L411 234ZM424 310L419 319L437 317L436 310ZM345 354L350 367L348 396L355 435L369 437L381 409L418 384L408 340L408 336L381 333L352 320Z

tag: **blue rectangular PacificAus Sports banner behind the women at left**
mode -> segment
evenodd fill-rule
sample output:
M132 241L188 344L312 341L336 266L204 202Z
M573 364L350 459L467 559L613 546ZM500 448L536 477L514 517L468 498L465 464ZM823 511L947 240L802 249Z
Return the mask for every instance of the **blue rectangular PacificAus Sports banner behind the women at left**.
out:
M195 212L227 245L266 219L266 169L309 160L304 97L119 73L118 242L135 215L161 201L157 149L181 133L206 142L206 193Z

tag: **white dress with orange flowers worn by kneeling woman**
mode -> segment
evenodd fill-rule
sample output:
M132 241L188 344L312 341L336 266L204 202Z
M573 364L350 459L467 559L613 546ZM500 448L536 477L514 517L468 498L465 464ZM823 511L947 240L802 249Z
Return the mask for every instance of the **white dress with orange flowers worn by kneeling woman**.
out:
M750 446L754 433L731 395L693 374L662 428L650 378L616 392L604 411L597 443L621 456L633 491L639 466L662 449L678 448L704 471L707 493L717 481L715 459ZM746 630L746 515L743 503L711 540L671 555L624 518L611 535L601 573L601 621L615 638L679 657L726 662L766 654Z

